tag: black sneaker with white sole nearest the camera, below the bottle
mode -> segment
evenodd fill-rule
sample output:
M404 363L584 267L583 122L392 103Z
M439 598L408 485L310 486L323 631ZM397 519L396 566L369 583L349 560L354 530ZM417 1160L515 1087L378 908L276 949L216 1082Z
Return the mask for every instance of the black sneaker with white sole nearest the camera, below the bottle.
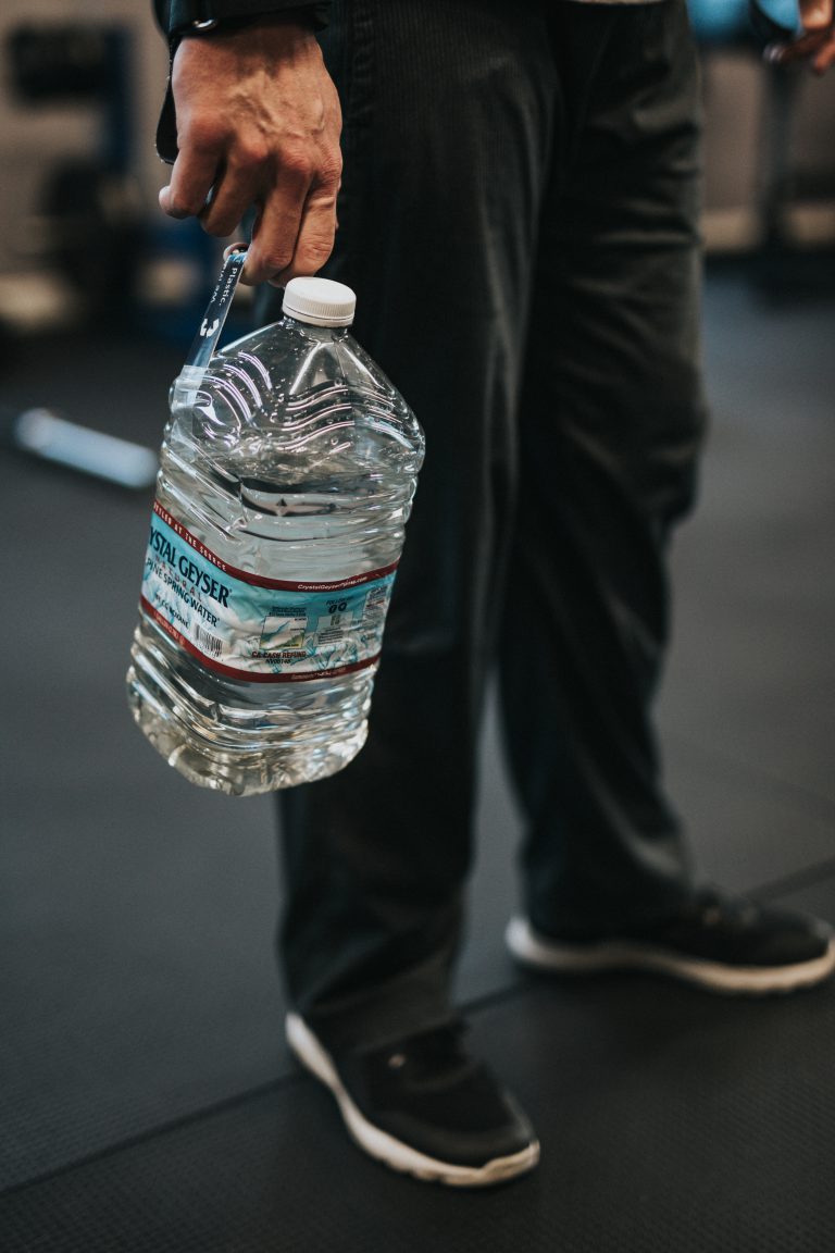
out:
M330 1089L366 1153L418 1179L486 1187L531 1170L540 1145L512 1098L463 1051L461 1030L337 1059L302 1017L287 1016L290 1048Z

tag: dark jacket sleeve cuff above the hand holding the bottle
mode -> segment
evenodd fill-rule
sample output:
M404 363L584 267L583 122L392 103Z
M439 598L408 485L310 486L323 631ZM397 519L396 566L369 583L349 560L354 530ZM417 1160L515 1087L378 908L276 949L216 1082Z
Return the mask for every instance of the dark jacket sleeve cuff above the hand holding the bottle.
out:
M277 13L304 11L315 26L328 23L329 0L153 0L160 30L168 36L170 59L184 36L199 36L215 28L247 23ZM156 152L173 164L177 160L177 115L170 75L156 127Z

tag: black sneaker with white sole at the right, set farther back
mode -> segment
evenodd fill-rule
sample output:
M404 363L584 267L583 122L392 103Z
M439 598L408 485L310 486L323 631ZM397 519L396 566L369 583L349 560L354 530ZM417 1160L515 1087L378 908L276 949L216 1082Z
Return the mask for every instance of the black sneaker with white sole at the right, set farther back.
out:
M516 917L506 940L520 962L541 971L650 970L719 992L790 992L835 969L835 936L825 923L712 888L672 918L617 935L545 935Z

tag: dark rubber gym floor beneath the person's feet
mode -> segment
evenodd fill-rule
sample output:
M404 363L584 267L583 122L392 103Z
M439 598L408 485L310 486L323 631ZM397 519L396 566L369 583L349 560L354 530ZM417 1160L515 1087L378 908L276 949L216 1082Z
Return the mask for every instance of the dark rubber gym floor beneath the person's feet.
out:
M702 878L835 922L835 294L775 301L714 271L705 326L669 784ZM183 351L25 340L0 403L155 447ZM461 1193L366 1159L283 1042L270 801L190 787L126 712L150 494L13 452L0 479L4 1253L831 1253L835 985L754 1000L521 975L492 714L458 997L542 1163Z

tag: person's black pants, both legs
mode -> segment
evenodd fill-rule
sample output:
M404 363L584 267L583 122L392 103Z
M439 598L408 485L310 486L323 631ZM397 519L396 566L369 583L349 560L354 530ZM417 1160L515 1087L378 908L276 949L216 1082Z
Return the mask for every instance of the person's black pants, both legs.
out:
M533 922L689 890L651 705L704 412L684 0L346 0L324 44L325 273L427 435L368 743L280 797L289 994L337 1046L449 1015L493 670Z

